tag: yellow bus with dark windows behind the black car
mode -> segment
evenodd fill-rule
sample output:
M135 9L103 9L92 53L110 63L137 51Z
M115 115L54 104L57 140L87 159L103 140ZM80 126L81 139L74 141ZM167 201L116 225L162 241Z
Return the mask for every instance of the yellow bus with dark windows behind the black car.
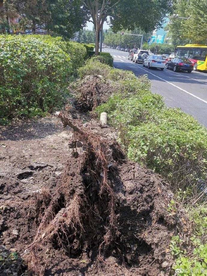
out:
M186 44L177 46L176 56L188 58L193 63L193 70L207 70L207 45Z

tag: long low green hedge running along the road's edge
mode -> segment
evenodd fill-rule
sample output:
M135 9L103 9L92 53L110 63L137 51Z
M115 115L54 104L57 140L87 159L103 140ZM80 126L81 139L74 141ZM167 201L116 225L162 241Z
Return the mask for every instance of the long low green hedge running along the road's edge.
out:
M108 113L128 157L160 173L175 190L188 190L191 196L203 190L207 180L206 128L181 110L167 108L162 96L150 91L146 76L136 78L129 71L110 70L101 63L95 64L95 70L105 70L102 75L119 83L117 92L97 107L96 113ZM90 68L88 72L94 71Z

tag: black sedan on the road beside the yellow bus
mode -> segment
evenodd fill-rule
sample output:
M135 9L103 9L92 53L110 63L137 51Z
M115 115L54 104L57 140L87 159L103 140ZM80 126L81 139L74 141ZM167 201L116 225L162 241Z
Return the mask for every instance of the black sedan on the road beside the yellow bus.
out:
M173 58L166 64L166 69L172 69L174 72L180 70L191 73L193 64L188 58Z

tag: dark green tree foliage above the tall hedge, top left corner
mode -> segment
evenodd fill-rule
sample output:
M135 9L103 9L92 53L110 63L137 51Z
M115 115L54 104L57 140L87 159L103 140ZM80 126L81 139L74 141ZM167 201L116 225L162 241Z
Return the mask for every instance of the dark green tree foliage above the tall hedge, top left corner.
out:
M13 17L18 17L18 22L9 20ZM78 0L0 0L0 32L42 28L71 38L87 19Z

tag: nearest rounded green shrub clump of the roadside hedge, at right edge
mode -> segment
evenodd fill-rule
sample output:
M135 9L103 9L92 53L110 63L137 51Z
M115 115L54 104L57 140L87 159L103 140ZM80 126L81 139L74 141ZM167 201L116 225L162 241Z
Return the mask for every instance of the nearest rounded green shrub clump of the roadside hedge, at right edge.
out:
M176 189L205 188L207 130L191 116L162 109L148 122L131 124L127 137L128 157L162 174Z

